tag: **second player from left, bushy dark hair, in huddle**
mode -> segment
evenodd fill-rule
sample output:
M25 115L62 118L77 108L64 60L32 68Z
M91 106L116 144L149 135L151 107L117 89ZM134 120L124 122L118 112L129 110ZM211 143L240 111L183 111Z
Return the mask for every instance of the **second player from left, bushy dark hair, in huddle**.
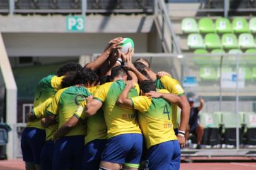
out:
M95 79L95 72L91 69L82 69L74 79L76 85L57 91L46 111L46 127L54 123L55 119L59 122L59 129L54 134L54 139L57 139L53 155L52 169L54 170L81 169L86 124L81 121L71 127L69 122L84 119L74 115L74 112L78 109L81 101L90 96L90 92L86 88L90 88L91 84L88 82L94 82Z

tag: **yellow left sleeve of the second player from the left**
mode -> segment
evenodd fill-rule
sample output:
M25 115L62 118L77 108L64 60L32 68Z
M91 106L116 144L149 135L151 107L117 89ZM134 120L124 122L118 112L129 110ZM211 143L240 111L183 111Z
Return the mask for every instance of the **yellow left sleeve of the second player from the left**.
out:
M54 96L54 99L52 99L52 103L50 103L50 106L46 110L47 115L56 116L59 113L59 100L61 98L61 94L64 91L64 89L61 89L57 91L57 93Z

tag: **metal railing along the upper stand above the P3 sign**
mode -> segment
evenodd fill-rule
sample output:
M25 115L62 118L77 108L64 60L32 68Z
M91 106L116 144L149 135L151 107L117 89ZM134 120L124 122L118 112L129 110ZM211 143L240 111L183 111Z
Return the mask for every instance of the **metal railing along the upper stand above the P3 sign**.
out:
M9 3L9 4L8 4ZM9 0L0 3L3 9L0 13L153 13L153 0L142 1L31 1L31 0Z

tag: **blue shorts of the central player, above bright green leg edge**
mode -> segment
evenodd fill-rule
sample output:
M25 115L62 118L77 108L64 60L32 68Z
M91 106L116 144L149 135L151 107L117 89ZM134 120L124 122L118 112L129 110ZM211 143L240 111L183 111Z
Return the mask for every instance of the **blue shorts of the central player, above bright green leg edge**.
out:
M128 133L107 140L102 161L117 164L139 164L143 152L143 135Z

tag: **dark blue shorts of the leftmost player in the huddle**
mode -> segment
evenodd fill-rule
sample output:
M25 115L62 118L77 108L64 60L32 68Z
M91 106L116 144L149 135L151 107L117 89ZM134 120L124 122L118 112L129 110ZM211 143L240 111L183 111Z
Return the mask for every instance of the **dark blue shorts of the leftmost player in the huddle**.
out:
M41 150L45 144L45 130L26 127L21 135L23 161L40 164Z

